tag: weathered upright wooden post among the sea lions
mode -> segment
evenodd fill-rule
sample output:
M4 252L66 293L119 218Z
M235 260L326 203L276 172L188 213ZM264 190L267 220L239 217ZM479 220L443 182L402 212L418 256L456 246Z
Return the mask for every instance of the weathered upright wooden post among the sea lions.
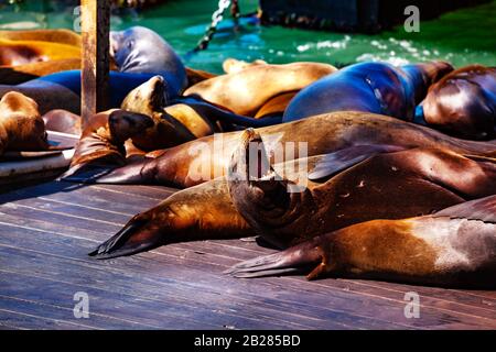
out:
M80 116L83 125L108 107L110 1L80 0L83 58Z

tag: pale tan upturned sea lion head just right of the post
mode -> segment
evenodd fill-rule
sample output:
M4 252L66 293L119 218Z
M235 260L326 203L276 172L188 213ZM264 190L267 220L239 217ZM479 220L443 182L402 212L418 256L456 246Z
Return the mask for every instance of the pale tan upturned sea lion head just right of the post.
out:
M122 101L121 109L144 114L152 114L166 106L165 80L154 76L141 86L131 90Z

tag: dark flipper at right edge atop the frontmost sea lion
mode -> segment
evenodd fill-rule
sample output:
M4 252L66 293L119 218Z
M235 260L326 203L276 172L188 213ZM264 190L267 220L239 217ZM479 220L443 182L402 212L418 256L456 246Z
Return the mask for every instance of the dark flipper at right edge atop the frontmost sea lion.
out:
M496 223L496 196L466 201L438 211L431 217L449 217L452 219L468 219Z

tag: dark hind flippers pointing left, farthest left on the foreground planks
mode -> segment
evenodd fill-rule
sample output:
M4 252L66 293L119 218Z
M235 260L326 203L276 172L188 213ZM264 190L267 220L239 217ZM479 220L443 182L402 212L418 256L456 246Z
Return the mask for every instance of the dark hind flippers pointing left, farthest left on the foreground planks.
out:
M145 213L133 217L119 232L88 253L98 260L131 255L161 244L161 235L149 226Z

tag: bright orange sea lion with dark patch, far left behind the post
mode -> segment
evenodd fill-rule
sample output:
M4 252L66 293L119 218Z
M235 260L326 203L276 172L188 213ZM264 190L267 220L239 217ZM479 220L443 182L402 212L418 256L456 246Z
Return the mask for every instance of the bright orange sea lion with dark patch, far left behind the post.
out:
M17 66L77 57L80 57L80 47L73 45L0 38L0 66Z

